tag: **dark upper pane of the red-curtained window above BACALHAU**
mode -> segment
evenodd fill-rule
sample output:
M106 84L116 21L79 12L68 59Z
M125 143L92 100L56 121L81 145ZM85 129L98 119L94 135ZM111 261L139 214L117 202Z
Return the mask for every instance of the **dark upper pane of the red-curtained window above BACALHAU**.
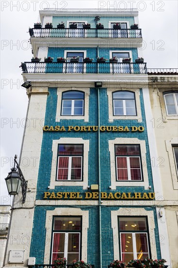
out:
M116 155L140 155L139 145L115 145Z

